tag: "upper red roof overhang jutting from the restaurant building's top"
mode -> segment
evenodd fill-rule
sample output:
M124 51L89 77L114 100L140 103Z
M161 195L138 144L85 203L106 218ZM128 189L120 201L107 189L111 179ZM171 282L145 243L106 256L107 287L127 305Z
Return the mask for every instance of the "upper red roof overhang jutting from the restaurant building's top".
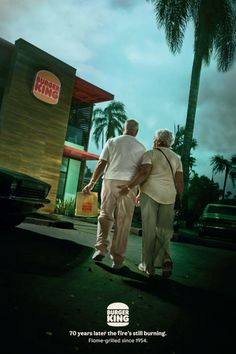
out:
M85 103L99 103L114 99L114 95L111 93L90 84L90 82L80 77L75 78L72 96Z

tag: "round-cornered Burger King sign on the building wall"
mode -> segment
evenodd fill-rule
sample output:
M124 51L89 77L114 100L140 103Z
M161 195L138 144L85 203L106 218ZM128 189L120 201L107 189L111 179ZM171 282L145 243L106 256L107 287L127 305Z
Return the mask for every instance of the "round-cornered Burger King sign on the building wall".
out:
M37 72L34 80L33 94L40 101L57 104L60 90L61 82L56 75L47 70Z

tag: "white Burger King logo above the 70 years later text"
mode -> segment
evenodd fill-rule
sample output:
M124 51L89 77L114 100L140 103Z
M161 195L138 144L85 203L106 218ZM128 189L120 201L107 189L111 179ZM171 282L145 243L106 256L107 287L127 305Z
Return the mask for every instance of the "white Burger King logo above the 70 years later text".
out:
M123 302L113 302L107 306L107 324L111 327L128 326L129 306Z

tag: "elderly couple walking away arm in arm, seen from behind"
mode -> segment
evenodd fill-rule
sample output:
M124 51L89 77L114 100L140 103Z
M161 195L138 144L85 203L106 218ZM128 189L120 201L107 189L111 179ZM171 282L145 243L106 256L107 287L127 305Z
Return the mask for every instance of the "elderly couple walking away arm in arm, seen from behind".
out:
M125 122L123 135L111 138L104 146L97 166L83 192L90 193L103 174L101 207L97 225L94 261L101 261L109 251L112 268L124 266L125 251L134 208L140 201L142 217L142 255L139 270L149 277L155 267L162 276L172 274L170 240L173 236L176 193L183 193L183 170L180 157L171 150L173 134L159 129L153 148L137 139L139 124ZM114 234L109 245L109 233Z

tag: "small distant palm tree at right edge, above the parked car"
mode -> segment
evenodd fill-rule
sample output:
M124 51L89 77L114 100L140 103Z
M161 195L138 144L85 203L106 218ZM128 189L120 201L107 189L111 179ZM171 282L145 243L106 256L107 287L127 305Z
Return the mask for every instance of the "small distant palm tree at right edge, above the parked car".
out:
M225 172L224 186L222 198L225 198L225 188L228 176L230 176L233 186L236 180L236 155L233 155L230 160L227 160L222 155L215 155L211 158L212 172L214 174Z

